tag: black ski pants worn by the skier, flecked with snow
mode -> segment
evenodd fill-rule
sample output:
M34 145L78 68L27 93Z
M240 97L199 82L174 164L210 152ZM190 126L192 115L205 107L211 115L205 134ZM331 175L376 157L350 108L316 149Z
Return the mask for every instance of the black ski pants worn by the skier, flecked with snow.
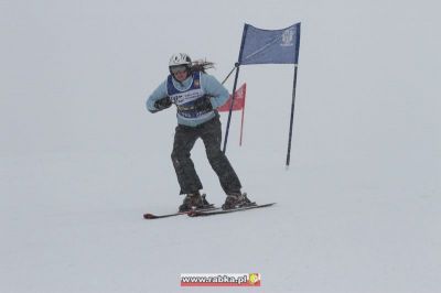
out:
M222 127L218 113L212 120L197 127L178 124L174 133L172 161L176 172L181 194L196 193L203 188L194 170L190 152L196 140L201 138L205 144L206 155L220 186L226 194L240 193L240 181L228 159L220 150Z

